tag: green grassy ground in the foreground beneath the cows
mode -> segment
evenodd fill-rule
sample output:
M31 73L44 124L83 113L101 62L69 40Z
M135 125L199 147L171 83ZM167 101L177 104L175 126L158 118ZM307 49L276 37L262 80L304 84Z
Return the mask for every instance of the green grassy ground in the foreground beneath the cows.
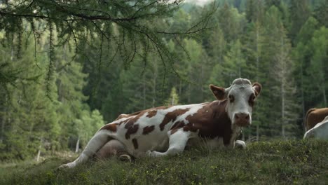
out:
M0 184L328 184L328 142L257 142L246 150L184 151L179 156L90 161L74 158L0 165Z

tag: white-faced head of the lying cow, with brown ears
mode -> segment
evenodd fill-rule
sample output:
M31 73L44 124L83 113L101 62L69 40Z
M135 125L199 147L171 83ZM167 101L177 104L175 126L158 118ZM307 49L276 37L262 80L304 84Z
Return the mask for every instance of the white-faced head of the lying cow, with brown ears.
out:
M226 112L233 125L247 126L252 123L254 100L261 93L259 83L252 85L248 79L238 78L229 88L210 85L210 89L217 100L227 100Z

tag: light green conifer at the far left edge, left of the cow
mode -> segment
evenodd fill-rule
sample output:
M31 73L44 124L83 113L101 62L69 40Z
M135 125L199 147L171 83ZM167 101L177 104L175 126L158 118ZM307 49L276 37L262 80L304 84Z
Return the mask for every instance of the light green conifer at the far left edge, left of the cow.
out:
M1 160L31 158L40 151L40 146L48 145L55 149L55 141L61 132L56 112L57 95L48 94L53 100L51 102L46 97L46 86L43 85L46 79L41 74L46 66L42 63L35 65L36 61L43 60L46 55L35 58L33 42L26 35L24 38L27 41L27 47L21 50L24 57L11 56L11 64L25 70L19 73L20 83L7 86L11 97L6 98L6 109L0 106L5 110L1 128ZM35 81L38 83L34 83ZM55 89L53 79L48 83Z

